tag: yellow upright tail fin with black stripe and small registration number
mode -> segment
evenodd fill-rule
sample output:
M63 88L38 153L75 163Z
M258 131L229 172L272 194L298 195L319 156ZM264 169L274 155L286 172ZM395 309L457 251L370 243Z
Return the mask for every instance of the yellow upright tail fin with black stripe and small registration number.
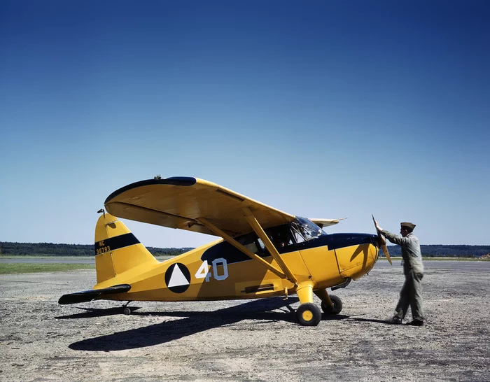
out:
M158 263L116 216L109 213L100 216L95 226L96 286L104 288L106 285L99 284L108 280L111 280L111 285L120 284L118 275L142 264L148 266Z

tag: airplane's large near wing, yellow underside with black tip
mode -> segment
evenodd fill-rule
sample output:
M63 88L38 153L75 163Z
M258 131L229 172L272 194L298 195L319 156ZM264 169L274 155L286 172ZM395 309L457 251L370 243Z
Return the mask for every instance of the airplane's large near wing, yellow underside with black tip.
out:
M216 235L199 222L204 218L216 227L237 236L252 231L241 208L250 208L266 229L295 219L221 185L199 178L148 179L116 190L104 202L106 210L118 218L163 227Z

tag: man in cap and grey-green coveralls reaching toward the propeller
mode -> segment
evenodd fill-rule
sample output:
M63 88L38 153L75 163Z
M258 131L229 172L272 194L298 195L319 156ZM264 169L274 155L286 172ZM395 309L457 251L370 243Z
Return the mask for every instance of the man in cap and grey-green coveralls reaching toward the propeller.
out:
M412 322L407 325L422 326L423 325L423 306L422 306L422 277L423 264L422 255L420 252L419 239L412 233L415 225L411 222L400 223L401 229L398 236L392 234L381 227L375 221L376 228L386 236L391 243L398 244L402 247L403 273L405 274L405 283L403 283L400 291L400 299L395 308L395 316L390 322L393 324L401 324L403 318L407 314L408 307L412 308Z

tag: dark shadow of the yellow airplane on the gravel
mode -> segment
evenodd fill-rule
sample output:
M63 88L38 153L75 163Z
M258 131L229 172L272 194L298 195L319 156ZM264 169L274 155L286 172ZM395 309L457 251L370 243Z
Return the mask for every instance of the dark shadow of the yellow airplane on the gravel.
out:
M172 311L172 312L134 312L139 316L162 316L162 317L182 317L181 320L165 321L155 325L140 327L123 332L116 332L91 339L74 342L69 345L72 350L79 351L120 351L133 348L144 348L165 344L176 339L190 336L205 330L214 329L223 325L233 325L241 320L269 320L286 321L294 325L297 324L295 311L290 304L298 302L297 297L290 297L284 301L281 297L271 297L268 299L258 299L245 304L231 306L230 308L218 311ZM139 309L139 308L137 308ZM281 309L281 311L274 311ZM133 310L136 310L133 308ZM87 309L84 313L77 313L71 316L58 318L87 318L98 316L111 316L120 314L121 309ZM349 316L325 315L323 320L343 320Z

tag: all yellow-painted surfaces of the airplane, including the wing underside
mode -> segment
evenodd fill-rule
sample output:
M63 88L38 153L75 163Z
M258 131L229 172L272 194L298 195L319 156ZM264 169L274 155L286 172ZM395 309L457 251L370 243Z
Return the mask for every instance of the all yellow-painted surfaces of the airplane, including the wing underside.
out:
M279 255L264 229L290 222L295 216L202 179L197 179L192 186L145 183L136 188L125 188L115 195L106 201L110 213L101 215L95 227L97 285L94 288L129 284L131 290L104 295L104 299L191 301L296 293L303 304L313 302L315 292L322 301L329 302L326 288L339 285L347 278L363 276L377 260L377 247L370 244L337 250L324 246ZM204 276L206 264L201 257L211 246L222 241L219 239L158 262L116 215L165 227L218 234L254 261L224 264L223 260L215 260L214 264L207 264L208 274ZM338 220L321 222L326 225ZM235 241L234 237L252 229L272 256L258 257ZM129 241L125 240L128 238ZM129 244L118 248L121 242ZM176 263L186 267L190 274L188 287L183 292L167 288L166 272ZM167 280L169 277L167 275ZM179 282L186 284L184 276L179 277Z

